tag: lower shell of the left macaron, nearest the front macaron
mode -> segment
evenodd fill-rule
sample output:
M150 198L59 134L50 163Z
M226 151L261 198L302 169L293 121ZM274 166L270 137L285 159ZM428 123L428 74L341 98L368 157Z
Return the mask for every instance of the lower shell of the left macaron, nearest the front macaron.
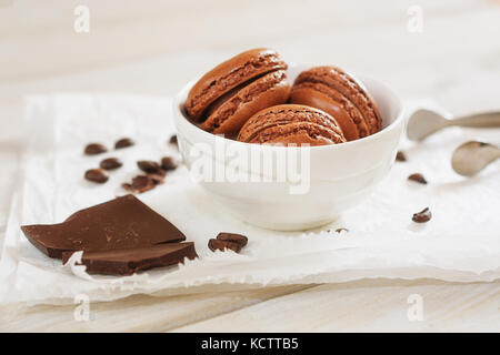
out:
M284 70L268 73L222 102L201 128L217 134L238 134L244 122L262 109L287 102L290 84Z

